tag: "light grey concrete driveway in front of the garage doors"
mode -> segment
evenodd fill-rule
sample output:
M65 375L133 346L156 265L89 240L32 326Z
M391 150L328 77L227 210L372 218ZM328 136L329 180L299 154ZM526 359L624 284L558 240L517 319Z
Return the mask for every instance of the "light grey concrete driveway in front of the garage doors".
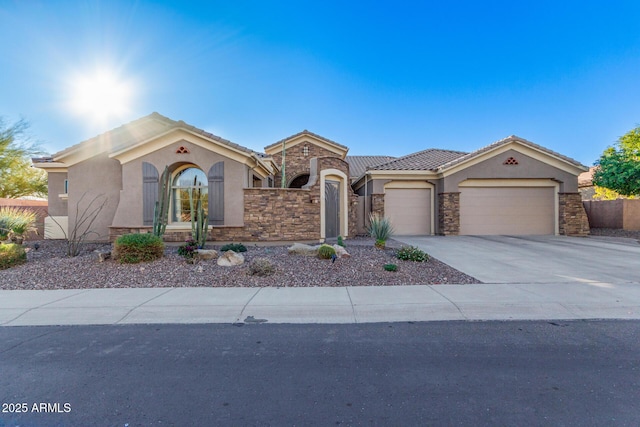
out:
M566 236L394 237L485 283L640 283L640 243Z

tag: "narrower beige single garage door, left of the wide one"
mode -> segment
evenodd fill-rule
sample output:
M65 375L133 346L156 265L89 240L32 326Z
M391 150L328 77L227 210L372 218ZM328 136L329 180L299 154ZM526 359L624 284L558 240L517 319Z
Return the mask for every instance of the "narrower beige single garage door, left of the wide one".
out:
M387 188L384 213L398 236L431 234L431 190Z

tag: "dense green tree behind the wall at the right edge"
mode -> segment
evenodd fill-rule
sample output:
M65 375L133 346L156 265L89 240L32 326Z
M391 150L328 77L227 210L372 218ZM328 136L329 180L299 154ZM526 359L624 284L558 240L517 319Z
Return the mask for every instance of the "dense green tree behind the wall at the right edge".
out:
M607 148L596 162L593 184L623 196L640 195L640 126Z

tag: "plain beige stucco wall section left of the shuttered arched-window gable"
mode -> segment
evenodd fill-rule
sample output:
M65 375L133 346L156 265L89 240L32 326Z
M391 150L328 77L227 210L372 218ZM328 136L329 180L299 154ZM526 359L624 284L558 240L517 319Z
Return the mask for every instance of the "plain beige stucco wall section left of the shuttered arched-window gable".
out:
M106 198L104 208L91 226L93 233L88 240L108 240L109 226L118 207L122 188L120 163L106 154L100 154L70 166L68 177L69 233L92 201L95 200L95 207ZM83 232L84 228L79 231Z

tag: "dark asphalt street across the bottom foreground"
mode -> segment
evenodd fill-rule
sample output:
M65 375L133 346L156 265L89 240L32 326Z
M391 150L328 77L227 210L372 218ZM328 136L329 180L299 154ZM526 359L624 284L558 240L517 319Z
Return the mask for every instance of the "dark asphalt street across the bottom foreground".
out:
M640 321L0 328L0 426L640 425Z

